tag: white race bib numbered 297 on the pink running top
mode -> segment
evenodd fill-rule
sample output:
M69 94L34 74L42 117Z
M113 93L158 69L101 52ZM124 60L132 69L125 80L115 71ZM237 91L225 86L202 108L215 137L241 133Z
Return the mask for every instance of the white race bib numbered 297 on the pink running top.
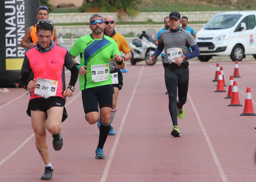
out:
M35 88L34 94L44 98L56 96L58 81L36 78L37 87Z

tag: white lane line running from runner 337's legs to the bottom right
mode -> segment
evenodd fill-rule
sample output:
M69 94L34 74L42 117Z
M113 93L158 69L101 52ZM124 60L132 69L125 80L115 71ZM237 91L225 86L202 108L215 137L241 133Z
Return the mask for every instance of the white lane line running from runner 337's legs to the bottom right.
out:
M207 144L208 144L208 146L209 146L209 148L210 148L211 154L212 154L213 159L214 159L214 161L215 161L215 164L216 164L216 166L217 166L217 168L218 168L218 171L219 171L219 173L220 173L221 179L222 179L223 182L227 182L228 179L227 179L227 177L226 177L226 175L225 175L225 173L224 173L224 171L223 171L223 169L222 169L222 166L221 166L221 164L220 164L220 161L218 160L218 157L217 157L217 155L216 155L216 153L215 153L215 151L214 151L214 148L213 148L213 145L212 145L212 143L211 143L211 140L210 140L210 138L209 138L209 136L208 136L208 134L207 134L207 132L206 132L206 130L205 130L205 128L204 128L204 125L203 125L203 123L202 123L202 120L201 120L201 118L200 118L200 116L199 116L199 114L198 114L198 112L197 112L197 109L196 109L196 107L195 107L195 105L194 105L194 102L193 102L192 99L191 99L191 96L190 96L189 92L188 92L188 97L189 97L189 101L190 101L190 103L191 103L191 105L192 105L192 108L193 108L193 110L194 110L194 112L195 112L195 114L196 114L197 121L198 121L198 123L199 123L199 125L200 125L200 127L201 127L201 129L202 129L203 134L204 134L204 138L205 138L205 140L207 141Z

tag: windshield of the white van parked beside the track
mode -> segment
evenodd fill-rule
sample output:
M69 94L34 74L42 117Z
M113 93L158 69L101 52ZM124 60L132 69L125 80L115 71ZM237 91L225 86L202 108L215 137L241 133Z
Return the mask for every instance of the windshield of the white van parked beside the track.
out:
M211 18L205 25L205 30L216 30L216 29L226 29L233 27L242 15L238 14L225 14L216 15Z

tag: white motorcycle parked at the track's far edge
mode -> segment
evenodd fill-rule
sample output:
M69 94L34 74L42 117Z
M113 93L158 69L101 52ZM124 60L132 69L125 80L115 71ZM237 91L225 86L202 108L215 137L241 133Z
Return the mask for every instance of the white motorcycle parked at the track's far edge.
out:
M129 43L132 53L132 58L130 59L132 65L143 60L146 61L147 65L154 65L157 62L156 57L151 64L147 63L147 60L153 55L157 48L157 46L155 46L155 37L156 31L154 29L148 29L147 34L146 31L142 31L142 34L138 38L133 39L132 42Z

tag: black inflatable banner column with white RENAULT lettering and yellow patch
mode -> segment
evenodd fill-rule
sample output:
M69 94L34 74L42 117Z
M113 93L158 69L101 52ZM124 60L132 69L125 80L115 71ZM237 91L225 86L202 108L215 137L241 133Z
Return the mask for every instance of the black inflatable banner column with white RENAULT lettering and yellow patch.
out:
M18 83L27 49L20 47L26 30L37 22L39 0L1 0L0 83Z

